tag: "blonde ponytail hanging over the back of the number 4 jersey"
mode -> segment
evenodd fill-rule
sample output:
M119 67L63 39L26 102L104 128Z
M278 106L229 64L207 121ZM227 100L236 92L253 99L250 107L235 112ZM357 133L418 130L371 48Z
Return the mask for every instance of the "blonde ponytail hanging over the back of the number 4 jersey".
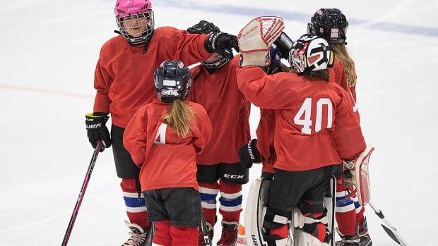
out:
M193 116L194 110L191 106L180 99L174 99L169 111L162 116L162 121L170 125L179 137L185 138L191 131L190 120Z

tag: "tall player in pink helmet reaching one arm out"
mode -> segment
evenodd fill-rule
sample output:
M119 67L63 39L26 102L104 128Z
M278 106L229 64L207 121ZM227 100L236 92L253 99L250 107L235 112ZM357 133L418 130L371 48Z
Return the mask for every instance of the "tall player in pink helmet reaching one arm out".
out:
M97 90L93 113L86 116L88 139L93 147L102 140L114 154L117 176L131 228L124 245L143 245L150 228L146 206L138 190L138 167L124 149L122 137L131 116L155 97L153 73L166 59L191 64L217 52L232 57L237 37L217 32L191 35L173 27L154 28L154 13L149 0L117 0L114 8L120 35L109 39L100 50L95 68ZM111 134L105 123L112 117Z

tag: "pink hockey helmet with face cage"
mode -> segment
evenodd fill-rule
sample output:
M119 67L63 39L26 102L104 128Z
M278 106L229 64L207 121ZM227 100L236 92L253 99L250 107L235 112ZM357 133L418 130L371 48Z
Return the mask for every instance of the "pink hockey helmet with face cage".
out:
M148 44L154 32L150 0L117 0L114 13L120 34L129 44Z

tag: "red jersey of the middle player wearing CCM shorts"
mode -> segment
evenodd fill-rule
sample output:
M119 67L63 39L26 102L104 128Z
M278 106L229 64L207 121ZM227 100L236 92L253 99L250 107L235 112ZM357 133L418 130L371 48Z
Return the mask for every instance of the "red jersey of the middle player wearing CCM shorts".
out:
M237 87L239 56L210 74L203 66L191 70L189 99L201 104L213 125L211 141L198 156L198 164L239 162L239 147L251 138L249 111L251 103Z

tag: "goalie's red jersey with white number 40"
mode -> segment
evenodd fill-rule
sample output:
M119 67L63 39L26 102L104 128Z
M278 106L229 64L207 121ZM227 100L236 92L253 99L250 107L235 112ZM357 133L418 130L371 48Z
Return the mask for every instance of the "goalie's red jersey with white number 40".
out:
M239 90L256 106L277 109L275 168L304 171L341 164L365 150L350 95L334 82L295 73L237 68Z

